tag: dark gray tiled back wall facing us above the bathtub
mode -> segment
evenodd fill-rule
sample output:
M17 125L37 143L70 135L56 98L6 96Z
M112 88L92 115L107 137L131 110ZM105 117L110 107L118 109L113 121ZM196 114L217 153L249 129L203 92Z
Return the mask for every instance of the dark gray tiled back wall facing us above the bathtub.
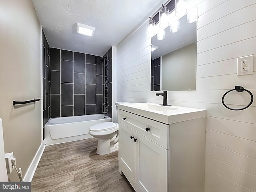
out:
M51 117L101 113L102 57L50 48L50 61Z

